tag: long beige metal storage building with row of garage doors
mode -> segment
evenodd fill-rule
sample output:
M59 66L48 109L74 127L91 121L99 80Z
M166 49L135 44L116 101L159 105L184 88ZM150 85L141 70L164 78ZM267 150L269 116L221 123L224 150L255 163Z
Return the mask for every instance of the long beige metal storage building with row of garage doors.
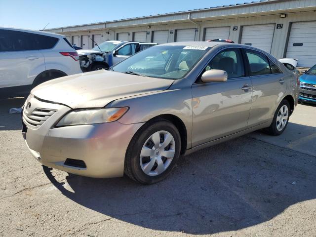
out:
M48 29L83 48L106 40L143 42L230 39L316 64L316 0L261 0L94 24Z

